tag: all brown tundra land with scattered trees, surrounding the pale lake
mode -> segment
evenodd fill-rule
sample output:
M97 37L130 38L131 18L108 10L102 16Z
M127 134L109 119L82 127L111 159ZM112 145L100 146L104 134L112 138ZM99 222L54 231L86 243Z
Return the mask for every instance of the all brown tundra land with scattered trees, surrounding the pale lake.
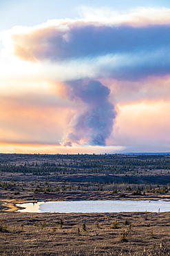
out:
M0 255L170 255L170 214L31 214L36 200L169 199L169 156L0 154Z

